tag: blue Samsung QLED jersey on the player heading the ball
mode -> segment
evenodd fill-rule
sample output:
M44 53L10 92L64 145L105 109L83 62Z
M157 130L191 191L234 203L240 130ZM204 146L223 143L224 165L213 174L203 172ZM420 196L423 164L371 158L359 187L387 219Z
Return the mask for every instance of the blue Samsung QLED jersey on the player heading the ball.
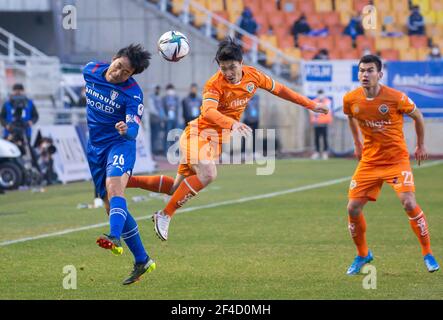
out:
M143 115L143 93L137 82L131 77L123 83L110 83L105 79L108 68L108 63L93 61L83 70L89 141L96 147L128 140L134 140L135 143L137 134L121 136L115 129L115 124L125 121L128 132L130 128L137 132Z

